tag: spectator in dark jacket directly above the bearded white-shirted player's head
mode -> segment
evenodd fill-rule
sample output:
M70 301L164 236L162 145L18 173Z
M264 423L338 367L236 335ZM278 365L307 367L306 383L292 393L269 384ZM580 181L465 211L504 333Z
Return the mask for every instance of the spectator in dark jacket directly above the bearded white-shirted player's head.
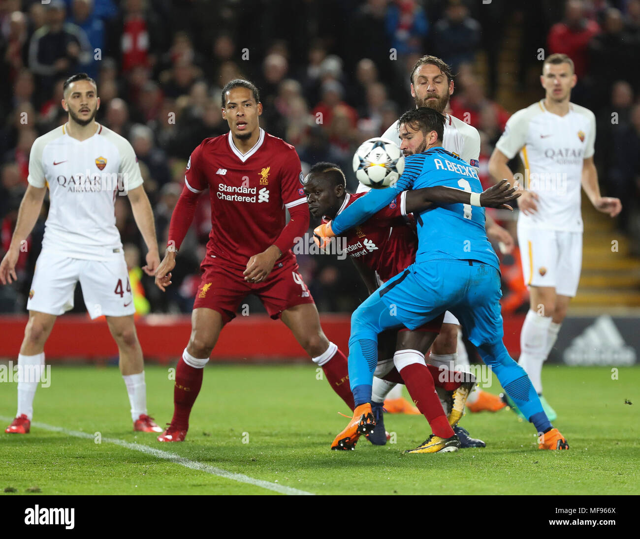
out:
M435 55L447 62L456 74L461 64L474 62L480 35L480 24L469 16L467 6L452 0L444 19L438 20L433 29Z

